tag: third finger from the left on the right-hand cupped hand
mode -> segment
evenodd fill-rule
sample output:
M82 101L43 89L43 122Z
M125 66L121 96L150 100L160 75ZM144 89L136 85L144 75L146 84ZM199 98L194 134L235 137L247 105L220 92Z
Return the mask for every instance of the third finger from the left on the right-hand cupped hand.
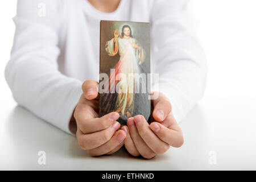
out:
M163 154L170 148L170 145L159 139L158 136L150 129L146 119L142 115L134 117L134 122L137 127L138 133L144 142L147 144L155 154Z

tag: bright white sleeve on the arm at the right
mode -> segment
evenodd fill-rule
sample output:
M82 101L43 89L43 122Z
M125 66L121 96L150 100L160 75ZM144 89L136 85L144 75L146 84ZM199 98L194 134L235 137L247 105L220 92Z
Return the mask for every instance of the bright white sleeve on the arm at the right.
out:
M151 39L154 42L154 72L180 122L203 96L207 64L187 0L154 1L151 8Z

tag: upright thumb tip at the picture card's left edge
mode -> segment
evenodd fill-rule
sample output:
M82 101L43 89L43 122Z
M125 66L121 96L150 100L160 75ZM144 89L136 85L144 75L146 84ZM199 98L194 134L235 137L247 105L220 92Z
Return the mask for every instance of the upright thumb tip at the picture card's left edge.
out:
M82 92L88 100L93 100L98 96L98 83L94 80L86 80L82 84Z

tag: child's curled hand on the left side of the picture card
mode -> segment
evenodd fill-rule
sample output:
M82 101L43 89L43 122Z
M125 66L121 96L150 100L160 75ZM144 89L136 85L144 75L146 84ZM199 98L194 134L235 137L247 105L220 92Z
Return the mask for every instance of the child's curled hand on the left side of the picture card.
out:
M76 106L74 117L77 123L76 138L82 149L89 155L113 154L123 146L126 133L120 127L119 114L112 112L98 118L98 83L86 80L82 84L84 92Z

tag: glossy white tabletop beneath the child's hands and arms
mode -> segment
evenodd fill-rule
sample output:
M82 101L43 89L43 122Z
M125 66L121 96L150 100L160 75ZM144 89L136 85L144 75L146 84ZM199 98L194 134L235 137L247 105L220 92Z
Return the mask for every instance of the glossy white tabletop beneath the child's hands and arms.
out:
M125 149L91 157L75 137L13 103L0 125L0 169L256 169L255 101L204 98L180 123L184 145L149 160ZM39 151L46 152L46 165L38 164Z

